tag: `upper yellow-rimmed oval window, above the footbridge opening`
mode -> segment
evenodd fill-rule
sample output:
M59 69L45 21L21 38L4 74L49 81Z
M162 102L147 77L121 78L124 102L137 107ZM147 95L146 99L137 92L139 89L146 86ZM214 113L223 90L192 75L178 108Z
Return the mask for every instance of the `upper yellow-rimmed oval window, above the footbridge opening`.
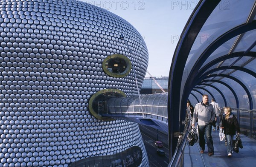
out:
M104 59L102 68L109 76L121 78L131 71L131 61L122 54L113 54Z

